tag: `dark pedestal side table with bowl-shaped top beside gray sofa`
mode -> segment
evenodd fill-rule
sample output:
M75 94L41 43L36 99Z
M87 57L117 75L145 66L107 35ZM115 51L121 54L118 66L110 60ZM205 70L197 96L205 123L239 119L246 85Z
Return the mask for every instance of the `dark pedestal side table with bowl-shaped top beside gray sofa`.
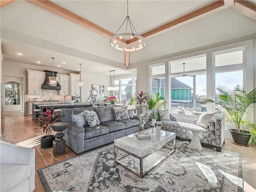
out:
M56 122L50 124L50 128L57 132L55 134L55 138L57 139L53 141L54 157L60 157L66 154L66 140L62 139L62 137L64 136L64 133L62 133L62 131L68 128L68 125L68 122Z

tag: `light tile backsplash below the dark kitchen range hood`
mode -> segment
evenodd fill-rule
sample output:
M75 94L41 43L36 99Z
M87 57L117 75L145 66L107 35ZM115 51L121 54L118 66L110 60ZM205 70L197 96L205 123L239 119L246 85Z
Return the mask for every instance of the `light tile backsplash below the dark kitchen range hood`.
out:
M27 95L28 102L34 101L34 98L37 98L38 101L43 100L59 100L64 101L64 95L59 95L59 90L49 90L49 89L42 89L42 94L40 95ZM66 96L67 99L70 99L69 96Z

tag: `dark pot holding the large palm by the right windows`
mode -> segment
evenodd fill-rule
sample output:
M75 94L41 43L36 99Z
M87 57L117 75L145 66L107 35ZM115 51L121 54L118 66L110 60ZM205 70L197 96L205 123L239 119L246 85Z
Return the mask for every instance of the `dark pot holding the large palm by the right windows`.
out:
M233 138L232 143L240 146L249 146L248 142L251 137L251 133L249 131L244 131L244 133L236 132L236 129L230 129L229 131Z

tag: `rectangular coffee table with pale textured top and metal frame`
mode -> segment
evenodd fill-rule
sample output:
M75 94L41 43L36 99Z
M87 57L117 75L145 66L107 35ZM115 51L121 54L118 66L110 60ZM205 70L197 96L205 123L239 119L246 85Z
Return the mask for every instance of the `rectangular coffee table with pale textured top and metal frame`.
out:
M151 131L151 129L148 129ZM172 147L170 146L173 142ZM166 148L171 150L165 156L162 156L157 162L152 166L148 167L146 170L143 170L143 160L154 152L159 151L161 148ZM117 149L124 152L121 156L117 157ZM156 138L153 134L150 139L140 140L135 134L128 135L119 139L114 140L114 161L132 172L133 174L142 178L153 168L158 166L163 160L169 157L176 150L176 134L173 132L168 132L161 130L161 137ZM139 159L140 168L136 172L132 170L127 164L121 162L120 160L126 158L127 156L134 156Z

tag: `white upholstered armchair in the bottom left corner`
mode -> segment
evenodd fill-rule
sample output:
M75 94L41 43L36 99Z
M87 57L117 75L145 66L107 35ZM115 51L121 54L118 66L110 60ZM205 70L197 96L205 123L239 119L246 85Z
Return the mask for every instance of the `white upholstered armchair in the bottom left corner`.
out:
M1 192L35 189L35 149L0 141Z

